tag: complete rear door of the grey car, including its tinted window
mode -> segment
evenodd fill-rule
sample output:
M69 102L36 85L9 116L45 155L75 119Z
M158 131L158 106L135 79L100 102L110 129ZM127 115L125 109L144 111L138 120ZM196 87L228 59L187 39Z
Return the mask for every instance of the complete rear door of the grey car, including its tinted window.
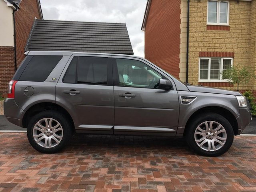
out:
M114 94L112 58L76 55L56 85L56 104L64 107L76 132L113 134Z

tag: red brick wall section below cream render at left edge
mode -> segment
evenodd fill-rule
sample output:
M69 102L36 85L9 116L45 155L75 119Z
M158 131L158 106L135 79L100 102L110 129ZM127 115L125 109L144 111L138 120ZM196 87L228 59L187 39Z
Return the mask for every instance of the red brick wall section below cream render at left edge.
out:
M0 94L4 97L14 72L14 47L0 47Z

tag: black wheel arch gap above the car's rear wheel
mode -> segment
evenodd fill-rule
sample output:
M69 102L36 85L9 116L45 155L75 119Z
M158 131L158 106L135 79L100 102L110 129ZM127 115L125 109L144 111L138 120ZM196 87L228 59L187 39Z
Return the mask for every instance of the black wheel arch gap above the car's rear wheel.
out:
M64 109L62 106L59 106L55 103L51 102L42 102L42 103L37 103L31 106L28 110L26 110L23 118L22 118L22 127L27 128L29 120L31 119L32 116L35 116L39 112L45 111L45 110L56 110L62 114L64 114L68 120L70 120L71 124L73 125L72 129L74 129L74 121L70 114L67 112L66 109Z

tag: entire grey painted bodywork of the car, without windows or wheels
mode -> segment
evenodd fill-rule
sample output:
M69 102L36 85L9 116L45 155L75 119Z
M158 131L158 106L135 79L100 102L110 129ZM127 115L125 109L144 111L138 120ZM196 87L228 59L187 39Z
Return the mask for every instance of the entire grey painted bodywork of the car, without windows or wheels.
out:
M40 102L56 103L66 109L74 121L76 132L182 136L190 116L200 108L209 106L219 106L229 110L237 120L238 134L250 123L249 108L238 107L235 95L242 95L239 92L186 86L144 58L64 51L36 51L29 52L28 55L62 55L63 58L44 82L18 81L15 86L15 100L7 98L4 101L6 117L18 126L22 126L24 113ZM74 55L140 60L170 80L173 90L64 84L62 78ZM26 96L24 92L28 86L34 89L32 96ZM80 94L64 94L64 90L78 88ZM126 92L135 94L135 97L118 96L119 93ZM185 105L181 104L180 96L196 96L197 99L192 104Z

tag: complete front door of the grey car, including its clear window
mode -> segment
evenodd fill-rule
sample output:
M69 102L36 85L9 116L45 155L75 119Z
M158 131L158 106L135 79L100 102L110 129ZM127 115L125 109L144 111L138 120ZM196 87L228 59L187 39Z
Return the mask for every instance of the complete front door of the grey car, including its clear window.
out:
M179 103L174 86L158 89L166 75L143 60L113 56L115 134L176 134Z

